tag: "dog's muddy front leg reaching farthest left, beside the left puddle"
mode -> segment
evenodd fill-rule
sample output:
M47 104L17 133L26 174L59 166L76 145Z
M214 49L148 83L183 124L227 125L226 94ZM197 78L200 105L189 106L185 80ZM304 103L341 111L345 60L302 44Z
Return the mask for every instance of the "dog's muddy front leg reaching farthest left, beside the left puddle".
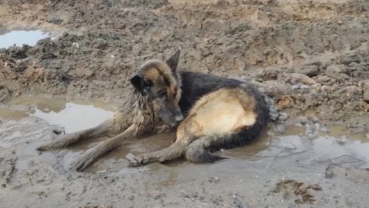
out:
M68 135L57 137L55 140L49 142L48 144L39 146L37 150L45 151L56 148L63 148L81 141L95 139L97 137L104 137L109 133L110 130L111 130L111 120L104 121L103 123L95 126L94 128L89 128L87 130L81 130L78 132L70 133Z

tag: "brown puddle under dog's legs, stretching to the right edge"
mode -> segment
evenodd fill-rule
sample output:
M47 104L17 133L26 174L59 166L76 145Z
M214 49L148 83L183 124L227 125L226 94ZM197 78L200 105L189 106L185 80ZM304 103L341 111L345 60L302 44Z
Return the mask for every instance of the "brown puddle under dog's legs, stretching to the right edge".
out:
M175 135L166 133L139 139L134 144L123 146L99 159L88 172L104 173L107 171L134 173L135 171L150 171L155 173L158 168L166 168L167 180L158 182L161 185L178 184L196 180L202 175L217 175L240 171L254 171L265 173L273 165L276 157L285 157L285 162L298 161L299 164L333 161L340 157L352 157L359 161L359 168L369 167L369 139L363 134L352 134L342 126L328 128L327 132L320 132L315 139L304 136L304 128L289 126L285 133L278 134L272 128L263 132L262 136L253 144L232 150L221 150L217 154L227 159L214 164L193 164L184 158L164 164L149 164L139 168L127 168L127 159L140 153L146 153L165 148L172 144ZM334 135L334 136L333 136ZM84 144L79 148L86 148L91 144ZM214 177L210 180L217 180Z

